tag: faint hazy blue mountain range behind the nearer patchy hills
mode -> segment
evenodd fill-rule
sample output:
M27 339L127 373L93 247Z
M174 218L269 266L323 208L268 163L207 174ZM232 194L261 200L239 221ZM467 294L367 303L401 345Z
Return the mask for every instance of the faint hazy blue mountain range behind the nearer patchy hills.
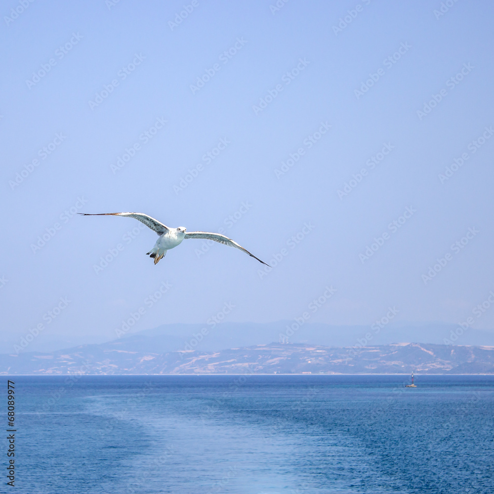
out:
M209 324L208 324L209 323ZM220 351L272 342L286 342L287 327L296 327L294 321L271 323L221 323L214 324L166 324L139 332L128 331L121 340L130 338L136 350L152 348L155 353L168 353L194 348L198 351ZM452 331L457 326L444 323L390 323L379 328L372 326L332 326L322 323L304 323L288 337L289 343L302 343L331 347L358 346L363 340L367 345L389 345L410 341L432 344L450 344ZM462 330L463 331L463 330ZM288 331L291 333L291 331ZM366 334L371 333L371 338ZM26 336L26 333L21 333ZM194 335L198 335L196 338ZM202 339L201 339L202 335ZM284 336L285 335L285 336ZM455 336L454 336L455 337ZM87 344L105 344L101 338L67 329L63 333L42 332L30 338L23 351L52 353L66 348ZM200 341L199 341L200 340ZM12 331L0 331L0 352L17 353L21 335ZM27 343L27 342L25 342ZM24 343L24 344L25 344ZM494 345L494 331L467 329L458 337L456 345Z

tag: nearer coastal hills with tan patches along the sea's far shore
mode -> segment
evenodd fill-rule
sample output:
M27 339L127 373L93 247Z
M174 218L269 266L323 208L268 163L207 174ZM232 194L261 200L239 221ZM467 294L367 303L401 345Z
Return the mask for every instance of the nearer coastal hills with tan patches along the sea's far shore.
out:
M270 343L160 353L122 338L54 353L0 355L2 374L494 373L494 347L429 343L327 347Z

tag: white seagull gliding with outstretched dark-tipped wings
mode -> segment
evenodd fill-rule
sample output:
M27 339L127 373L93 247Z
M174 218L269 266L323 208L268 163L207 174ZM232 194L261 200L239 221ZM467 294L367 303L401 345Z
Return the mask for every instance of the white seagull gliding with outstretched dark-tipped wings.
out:
M177 247L182 243L184 239L207 239L214 240L214 242L219 242L220 244L224 244L226 246L235 247L246 254L250 255L254 259L257 259L262 264L269 266L264 261L261 261L254 254L251 254L247 249L237 244L237 242L221 235L220 233L209 233L209 232L189 232L185 233L186 228L183 226L179 226L178 228L170 228L157 219L152 218L144 213L79 213L82 216L128 216L129 218L135 218L136 220L144 223L147 227L154 230L158 235L159 239L156 241L154 247L146 252L146 255L154 259L154 263L158 264L160 259L165 257L166 252L170 250L170 248Z

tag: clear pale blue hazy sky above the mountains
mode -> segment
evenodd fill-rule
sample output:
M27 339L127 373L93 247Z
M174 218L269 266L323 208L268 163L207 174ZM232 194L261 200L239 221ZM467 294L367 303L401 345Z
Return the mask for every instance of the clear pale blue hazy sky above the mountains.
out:
M290 320L318 297L313 322L494 327L492 2L0 13L2 341ZM75 214L113 211L223 228L274 267L199 240L155 266L151 230Z

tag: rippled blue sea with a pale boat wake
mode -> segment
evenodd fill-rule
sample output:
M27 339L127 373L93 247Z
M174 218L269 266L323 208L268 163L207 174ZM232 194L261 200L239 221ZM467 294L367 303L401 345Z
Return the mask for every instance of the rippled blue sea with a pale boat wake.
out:
M4 492L494 493L494 376L12 379Z

